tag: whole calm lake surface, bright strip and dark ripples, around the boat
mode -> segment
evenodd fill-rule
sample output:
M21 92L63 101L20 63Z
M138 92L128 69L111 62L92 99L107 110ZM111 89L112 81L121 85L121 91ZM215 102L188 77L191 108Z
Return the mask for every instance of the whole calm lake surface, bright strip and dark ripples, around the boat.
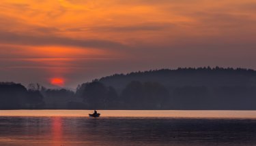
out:
M0 145L256 145L256 111L91 112L0 111Z

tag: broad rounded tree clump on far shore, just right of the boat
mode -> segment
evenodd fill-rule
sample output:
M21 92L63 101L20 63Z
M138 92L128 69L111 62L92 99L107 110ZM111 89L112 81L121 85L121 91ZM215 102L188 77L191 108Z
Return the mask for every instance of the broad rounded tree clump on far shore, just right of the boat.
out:
M165 109L168 90L157 82L131 81L122 92L126 109Z

